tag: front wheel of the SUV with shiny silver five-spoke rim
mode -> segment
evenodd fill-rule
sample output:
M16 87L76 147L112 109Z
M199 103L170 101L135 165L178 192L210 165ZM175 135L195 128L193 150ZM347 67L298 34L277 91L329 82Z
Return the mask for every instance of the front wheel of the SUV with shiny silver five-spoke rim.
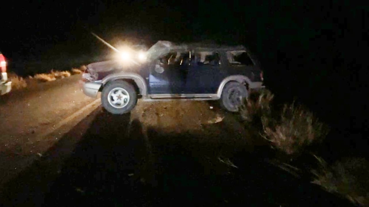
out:
M108 100L108 95L110 92L112 92L113 95L116 96L113 90L115 92L123 91L124 95L128 94L128 98L123 99L124 103L121 103L120 105L115 104L114 106L114 104L112 103L114 101L113 97L110 96L110 101ZM127 100L127 102L125 102L125 100ZM128 113L136 106L137 93L135 91L134 86L126 81L123 81L123 80L111 81L111 82L108 82L104 86L103 91L101 92L101 103L103 107L110 113L113 113L113 114ZM120 107L120 108L117 108L117 107Z

